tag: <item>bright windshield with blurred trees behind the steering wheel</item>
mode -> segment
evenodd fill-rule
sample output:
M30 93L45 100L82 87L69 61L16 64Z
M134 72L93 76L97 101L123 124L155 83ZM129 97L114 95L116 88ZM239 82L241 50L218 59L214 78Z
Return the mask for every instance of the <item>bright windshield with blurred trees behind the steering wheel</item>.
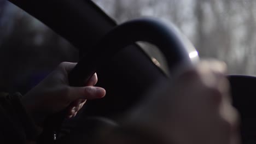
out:
M256 75L256 1L94 0L118 23L142 16L174 23L201 58L217 58L229 74Z

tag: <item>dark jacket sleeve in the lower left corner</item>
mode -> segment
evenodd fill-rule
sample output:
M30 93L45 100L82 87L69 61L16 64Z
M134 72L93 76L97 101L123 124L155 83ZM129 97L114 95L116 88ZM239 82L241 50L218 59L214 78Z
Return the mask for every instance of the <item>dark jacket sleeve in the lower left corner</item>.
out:
M20 93L0 93L0 143L26 143L39 135L20 98Z

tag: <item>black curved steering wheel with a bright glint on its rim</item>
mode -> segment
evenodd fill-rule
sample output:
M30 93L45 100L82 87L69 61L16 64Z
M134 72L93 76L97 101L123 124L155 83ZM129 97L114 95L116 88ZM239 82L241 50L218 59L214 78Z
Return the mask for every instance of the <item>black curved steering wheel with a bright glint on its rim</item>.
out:
M197 51L178 32L176 27L167 26L155 19L137 19L125 22L107 33L69 73L69 85L84 86L84 83L98 68L109 64L108 60L111 57L137 41L146 41L156 45L164 54L170 72L178 65L191 65L199 60ZM194 53L193 56L191 53ZM90 109L86 109L86 111L88 110L90 111ZM56 135L56 131L61 127L61 122L64 121L65 116L66 110L57 113L46 121L45 127L50 129L48 131L55 131L53 135Z

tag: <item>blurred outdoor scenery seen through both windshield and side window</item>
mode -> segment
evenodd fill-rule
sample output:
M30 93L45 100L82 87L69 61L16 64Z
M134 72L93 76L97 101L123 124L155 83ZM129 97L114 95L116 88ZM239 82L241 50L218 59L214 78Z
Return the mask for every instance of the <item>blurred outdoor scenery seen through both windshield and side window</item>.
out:
M94 0L118 23L153 16L174 23L200 57L228 64L229 74L256 75L254 0ZM155 50L147 49L154 55ZM26 92L78 51L13 4L0 0L0 91Z

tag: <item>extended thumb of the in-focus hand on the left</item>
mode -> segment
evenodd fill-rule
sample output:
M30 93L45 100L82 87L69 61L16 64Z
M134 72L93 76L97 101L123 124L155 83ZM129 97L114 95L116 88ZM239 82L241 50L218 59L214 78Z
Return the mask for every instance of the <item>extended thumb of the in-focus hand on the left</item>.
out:
M105 94L105 89L101 87L71 87L68 98L72 101L77 99L98 99L103 98Z

